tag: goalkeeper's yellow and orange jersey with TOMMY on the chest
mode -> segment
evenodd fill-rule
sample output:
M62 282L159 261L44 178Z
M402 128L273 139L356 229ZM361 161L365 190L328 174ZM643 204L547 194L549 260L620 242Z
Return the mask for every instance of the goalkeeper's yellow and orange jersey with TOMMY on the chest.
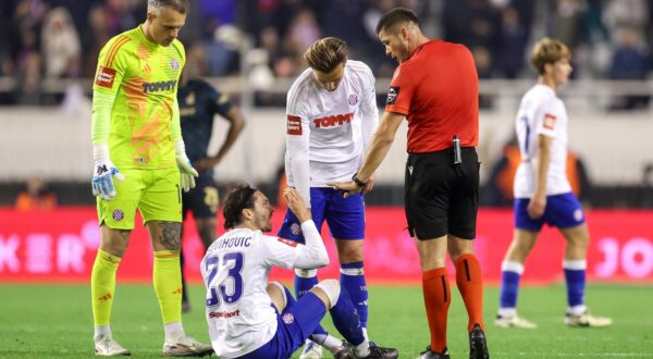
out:
M182 42L155 44L141 26L113 37L100 51L93 88L95 96L115 97L108 145L118 169L175 166L171 126L178 125L175 98L185 61Z

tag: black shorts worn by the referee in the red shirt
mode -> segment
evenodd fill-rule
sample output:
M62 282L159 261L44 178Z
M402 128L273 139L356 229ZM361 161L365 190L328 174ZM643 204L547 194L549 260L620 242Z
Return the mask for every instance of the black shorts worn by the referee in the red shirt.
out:
M404 206L411 237L476 237L479 158L475 148L463 148L463 163L453 159L453 149L408 154Z

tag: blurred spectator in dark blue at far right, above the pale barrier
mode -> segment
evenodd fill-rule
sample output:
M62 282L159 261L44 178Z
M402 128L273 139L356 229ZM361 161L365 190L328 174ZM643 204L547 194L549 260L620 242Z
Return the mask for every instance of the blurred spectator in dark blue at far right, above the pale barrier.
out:
M646 79L650 54L643 48L636 29L621 27L617 30L617 45L609 69L613 79ZM649 96L627 96L617 99L613 110L644 109L649 106Z

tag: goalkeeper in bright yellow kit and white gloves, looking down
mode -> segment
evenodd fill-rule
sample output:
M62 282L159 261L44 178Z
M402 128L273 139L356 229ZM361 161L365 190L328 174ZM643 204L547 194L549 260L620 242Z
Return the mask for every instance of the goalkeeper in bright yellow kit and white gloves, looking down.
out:
M188 0L148 0L145 23L109 40L98 60L91 133L100 248L90 278L97 356L130 355L113 339L109 323L115 273L136 209L152 243L163 355L212 352L185 334L181 314L181 191L193 188L197 176L186 157L176 102L186 60L176 37L187 12Z

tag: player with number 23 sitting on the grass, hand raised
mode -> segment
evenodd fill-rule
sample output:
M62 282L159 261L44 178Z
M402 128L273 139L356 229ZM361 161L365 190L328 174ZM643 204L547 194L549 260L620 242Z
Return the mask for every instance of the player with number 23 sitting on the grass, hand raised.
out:
M310 210L295 189L287 189L288 208L301 223L306 245L263 235L271 230L273 209L260 191L241 185L224 200L229 230L201 261L207 288L206 318L211 344L220 358L289 358L311 336L329 309L335 327L347 339L335 358L397 358L396 349L381 348L365 338L360 319L336 280L317 284L295 301L287 288L268 283L274 265L317 269L329 256L311 220Z

